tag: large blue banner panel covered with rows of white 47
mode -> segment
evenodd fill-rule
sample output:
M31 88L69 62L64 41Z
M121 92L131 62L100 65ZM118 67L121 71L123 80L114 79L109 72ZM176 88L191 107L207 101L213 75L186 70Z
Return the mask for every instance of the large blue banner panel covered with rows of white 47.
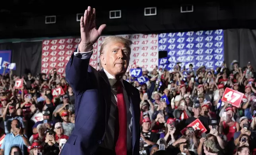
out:
M159 59L159 68L173 71L177 62L186 69L206 66L215 69L224 60L223 30L161 33L158 37L159 51L167 51L166 58Z

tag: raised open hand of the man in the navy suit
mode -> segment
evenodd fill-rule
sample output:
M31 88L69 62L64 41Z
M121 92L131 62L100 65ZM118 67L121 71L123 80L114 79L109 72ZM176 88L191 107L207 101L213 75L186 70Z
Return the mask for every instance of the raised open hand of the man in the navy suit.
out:
M95 8L91 9L91 7L88 6L88 8L84 12L84 15L80 19L80 52L91 51L93 49L93 44L98 40L98 38L101 36L102 31L106 27L106 25L103 24L99 26L99 29L97 30L95 24L95 17Z

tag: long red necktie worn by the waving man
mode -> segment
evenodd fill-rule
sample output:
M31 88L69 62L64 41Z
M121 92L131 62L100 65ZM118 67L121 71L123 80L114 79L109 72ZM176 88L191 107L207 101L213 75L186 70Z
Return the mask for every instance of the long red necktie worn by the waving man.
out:
M127 154L127 118L126 118L126 104L124 101L124 92L122 88L121 81L116 82L117 91L117 108L118 108L118 118L119 118L119 134L116 142L116 155L126 155Z

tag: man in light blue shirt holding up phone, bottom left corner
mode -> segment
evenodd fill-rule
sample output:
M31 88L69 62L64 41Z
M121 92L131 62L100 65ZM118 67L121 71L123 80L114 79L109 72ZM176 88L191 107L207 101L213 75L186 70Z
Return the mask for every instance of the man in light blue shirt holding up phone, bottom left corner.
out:
M27 151L26 147L30 145L29 140L23 134L19 120L12 120L11 127L12 132L6 134L4 142L1 145L1 155L9 155L12 146L18 146L22 153L24 153L24 151Z

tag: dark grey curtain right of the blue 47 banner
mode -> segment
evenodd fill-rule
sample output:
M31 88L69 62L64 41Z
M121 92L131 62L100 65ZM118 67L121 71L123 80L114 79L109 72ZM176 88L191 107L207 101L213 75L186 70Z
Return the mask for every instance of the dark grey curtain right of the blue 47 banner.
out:
M239 66L251 62L256 67L256 30L228 29L224 31L224 59L229 66L238 60Z

